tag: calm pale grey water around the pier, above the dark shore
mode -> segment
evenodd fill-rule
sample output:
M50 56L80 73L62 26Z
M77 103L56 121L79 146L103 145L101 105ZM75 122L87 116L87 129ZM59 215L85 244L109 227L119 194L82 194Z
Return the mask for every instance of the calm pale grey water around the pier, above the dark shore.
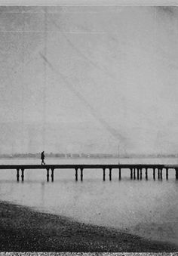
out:
M1 159L0 164L38 164L38 159ZM117 159L47 159L48 164L113 163ZM177 164L176 159L121 159L120 163ZM115 227L149 239L178 245L178 181L130 180L130 171L84 170L84 181L75 182L74 170L55 170L54 183L46 182L46 171L26 170L24 183L17 183L16 170L1 170L0 199L28 205L40 211L72 217L84 223Z

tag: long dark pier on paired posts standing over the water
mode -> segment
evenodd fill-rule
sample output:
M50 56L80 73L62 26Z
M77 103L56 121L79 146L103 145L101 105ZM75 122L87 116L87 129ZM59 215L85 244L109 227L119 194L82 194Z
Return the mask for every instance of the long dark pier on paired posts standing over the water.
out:
M130 179L131 180L142 180L143 171L145 172L145 179L148 180L148 172L152 171L152 177L156 179L156 172L158 180L162 180L163 170L166 172L166 179L168 179L169 170L175 171L176 180L178 180L178 165L130 165L130 164L119 164L119 165L0 165L0 169L14 169L17 170L17 181L24 181L25 170L27 169L44 169L46 170L47 181L54 181L54 170L57 169L74 169L75 170L75 180L78 181L78 171L80 174L80 180L83 180L84 169L101 169L103 170L103 181L106 180L106 170L109 171L109 180L112 180L112 170L118 169L118 180L121 180L121 171L124 169L130 170Z

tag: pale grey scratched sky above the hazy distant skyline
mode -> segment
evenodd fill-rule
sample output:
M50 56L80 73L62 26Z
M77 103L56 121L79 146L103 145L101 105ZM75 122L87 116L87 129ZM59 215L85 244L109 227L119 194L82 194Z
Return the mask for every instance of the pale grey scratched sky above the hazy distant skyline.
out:
M178 9L0 8L0 153L177 153Z

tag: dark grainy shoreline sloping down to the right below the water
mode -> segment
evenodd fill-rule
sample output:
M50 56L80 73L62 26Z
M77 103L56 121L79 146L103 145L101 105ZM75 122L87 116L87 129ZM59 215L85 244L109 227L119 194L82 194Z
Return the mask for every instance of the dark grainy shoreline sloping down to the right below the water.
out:
M178 251L178 246L170 243L153 242L8 202L0 202L0 216L0 251Z

